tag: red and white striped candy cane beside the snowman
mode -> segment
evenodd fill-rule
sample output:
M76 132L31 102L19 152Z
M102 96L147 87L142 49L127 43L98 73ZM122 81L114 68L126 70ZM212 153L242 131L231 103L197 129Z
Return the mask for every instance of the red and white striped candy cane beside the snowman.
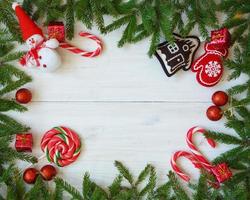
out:
M85 50L79 49L71 44L68 44L67 42L61 42L60 47L62 47L63 49L66 49L72 53L75 53L75 54L78 54L78 55L84 56L84 57L95 57L101 53L102 48L103 48L102 41L97 36L92 35L92 34L87 33L87 32L80 32L79 35L82 37L86 37L86 38L89 38L91 40L94 40L98 46L97 49L95 51L85 51Z

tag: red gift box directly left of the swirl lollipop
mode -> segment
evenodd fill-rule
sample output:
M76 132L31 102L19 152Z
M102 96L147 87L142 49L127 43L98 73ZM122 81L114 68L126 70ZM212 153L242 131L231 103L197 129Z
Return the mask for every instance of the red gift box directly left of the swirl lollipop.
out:
M33 138L31 133L16 134L15 148L17 151L32 152Z

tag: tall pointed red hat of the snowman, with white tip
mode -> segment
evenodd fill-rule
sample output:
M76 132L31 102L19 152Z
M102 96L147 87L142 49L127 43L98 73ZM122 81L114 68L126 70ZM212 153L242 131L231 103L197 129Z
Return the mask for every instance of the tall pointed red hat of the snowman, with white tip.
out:
M13 3L12 8L16 12L24 41L35 34L43 36L42 30L32 21L18 3Z

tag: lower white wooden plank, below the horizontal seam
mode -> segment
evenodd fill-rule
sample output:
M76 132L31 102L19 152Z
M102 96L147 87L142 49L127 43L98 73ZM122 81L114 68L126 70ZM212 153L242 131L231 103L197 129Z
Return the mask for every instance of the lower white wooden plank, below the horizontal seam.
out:
M53 126L65 125L81 136L84 144L79 159L60 169L60 175L80 187L83 172L94 180L109 184L116 175L114 160L124 161L135 174L147 163L156 166L160 181L170 170L170 157L176 150L188 150L186 131L194 125L224 130L221 123L208 122L204 111L207 103L90 103L37 102L30 111L16 116L31 126L34 134L34 154L40 157L40 139ZM211 150L204 137L197 143L209 158L226 148ZM46 163L41 160L38 166ZM188 162L187 162L188 163ZM26 167L26 163L21 164ZM188 164L191 174L196 171ZM192 172L193 171L193 172Z

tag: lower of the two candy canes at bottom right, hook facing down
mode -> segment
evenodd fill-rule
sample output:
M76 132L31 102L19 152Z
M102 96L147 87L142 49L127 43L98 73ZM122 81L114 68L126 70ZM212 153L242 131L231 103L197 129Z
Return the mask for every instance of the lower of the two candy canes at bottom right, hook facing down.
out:
M189 159L193 165L196 167L196 168L199 168L201 169L202 168L202 165L201 163L199 162L199 160L197 160L197 158L190 152L187 152L187 151L177 151L174 153L174 155L172 156L171 158L171 166L174 170L174 172L179 176L181 177L184 181L186 182L189 182L190 181L190 177L188 175L186 175L177 165L176 161L178 158L180 157L185 157L187 159Z

